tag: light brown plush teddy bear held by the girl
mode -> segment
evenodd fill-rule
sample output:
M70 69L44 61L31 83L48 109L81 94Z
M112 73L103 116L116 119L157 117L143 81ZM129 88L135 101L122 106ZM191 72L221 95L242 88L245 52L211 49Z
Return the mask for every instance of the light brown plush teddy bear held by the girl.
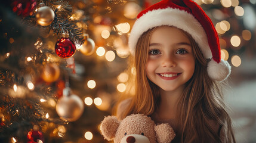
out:
M115 116L104 117L100 130L105 139L115 143L169 143L175 137L168 123L156 125L143 114L131 114L121 121Z

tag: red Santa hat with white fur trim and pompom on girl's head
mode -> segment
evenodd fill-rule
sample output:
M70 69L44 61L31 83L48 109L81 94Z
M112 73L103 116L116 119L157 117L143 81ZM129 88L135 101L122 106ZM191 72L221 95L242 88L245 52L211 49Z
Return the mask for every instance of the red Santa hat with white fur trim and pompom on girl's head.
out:
M213 80L226 79L231 71L227 61L220 58L220 42L211 19L191 0L163 0L137 16L129 36L129 48L135 55L140 36L158 26L174 26L189 33L198 43L203 57L210 58L208 74Z

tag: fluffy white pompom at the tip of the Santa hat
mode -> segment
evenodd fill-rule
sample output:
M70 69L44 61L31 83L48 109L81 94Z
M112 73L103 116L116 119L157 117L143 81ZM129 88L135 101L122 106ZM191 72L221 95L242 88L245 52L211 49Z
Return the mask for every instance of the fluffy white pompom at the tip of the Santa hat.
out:
M220 63L217 63L213 59L209 61L207 71L209 74L209 77L213 80L217 81L223 81L229 77L229 74L231 72L231 66L227 61L224 61L221 59Z

